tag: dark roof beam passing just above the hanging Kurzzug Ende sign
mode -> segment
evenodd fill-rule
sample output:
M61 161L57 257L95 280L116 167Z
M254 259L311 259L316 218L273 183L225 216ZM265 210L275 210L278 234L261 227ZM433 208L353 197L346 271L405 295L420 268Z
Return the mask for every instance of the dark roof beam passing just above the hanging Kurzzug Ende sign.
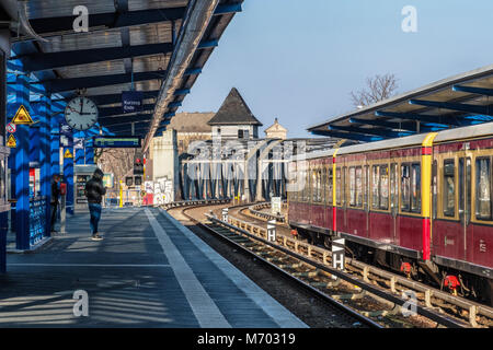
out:
M162 70L138 72L134 73L134 81L163 79L164 74L165 71ZM130 81L131 81L131 73L121 73L121 74L81 77L71 79L51 79L42 81L39 82L39 84L44 84L46 86L46 90L48 90L51 93L58 93L83 88L90 89L90 88L125 84L129 83Z

